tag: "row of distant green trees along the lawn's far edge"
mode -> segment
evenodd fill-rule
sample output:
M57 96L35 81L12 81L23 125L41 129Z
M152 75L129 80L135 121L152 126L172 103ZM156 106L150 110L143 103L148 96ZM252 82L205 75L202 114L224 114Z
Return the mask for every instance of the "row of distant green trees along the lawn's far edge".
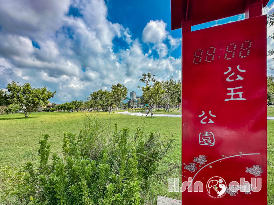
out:
M148 104L149 108L154 109L160 105L167 107L180 104L181 102L181 82L176 81L173 77L166 81L156 81L154 75L151 73L142 74L140 82L145 83L144 87L138 86L138 89L142 92L142 104ZM12 81L7 85L7 89L0 90L0 114L14 113L18 110L22 110L25 114L25 118L33 111L37 111L39 107L43 108L43 111L63 111L68 112L76 110L104 110L115 112L118 109L119 104L124 107L128 107L128 103L122 103L122 100L127 96L128 89L120 84L112 84L111 90L98 90L91 93L86 101L71 101L57 105L52 103L52 108L45 108L49 99L54 97L56 92L47 90L47 87L34 88L29 83L19 85L17 82ZM152 109L150 109L151 116L153 116Z

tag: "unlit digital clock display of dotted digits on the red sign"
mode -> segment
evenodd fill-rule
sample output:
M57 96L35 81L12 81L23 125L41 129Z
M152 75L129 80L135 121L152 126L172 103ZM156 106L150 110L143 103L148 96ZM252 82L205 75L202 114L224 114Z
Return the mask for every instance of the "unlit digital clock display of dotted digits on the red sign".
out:
M245 40L242 43L230 43L229 45L223 48L216 48L215 46L211 46L206 49L200 48L194 52L193 63L210 63L216 60L216 58L221 58L225 60L231 60L236 57L246 58L250 54L251 46L252 41Z

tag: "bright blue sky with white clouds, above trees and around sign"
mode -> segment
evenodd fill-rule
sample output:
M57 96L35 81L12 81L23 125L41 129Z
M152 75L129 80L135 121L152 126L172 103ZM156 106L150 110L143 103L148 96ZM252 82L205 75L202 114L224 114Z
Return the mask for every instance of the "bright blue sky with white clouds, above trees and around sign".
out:
M271 0L263 13L272 13ZM192 27L244 19L238 15ZM52 102L84 100L142 73L181 78L181 29L171 31L170 1L9 1L0 7L0 89L11 81L57 91ZM268 28L268 34L274 32ZM268 39L268 49L274 48ZM274 67L272 57L268 65ZM274 74L269 71L269 75Z

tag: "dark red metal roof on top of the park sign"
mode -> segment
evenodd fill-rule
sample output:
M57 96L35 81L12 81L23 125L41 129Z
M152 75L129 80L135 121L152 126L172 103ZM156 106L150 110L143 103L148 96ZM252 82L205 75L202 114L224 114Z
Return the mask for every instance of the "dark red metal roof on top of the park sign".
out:
M261 3L265 7L269 0L171 0L171 30L181 28L186 20L191 20L193 26L245 13L247 1L251 5Z

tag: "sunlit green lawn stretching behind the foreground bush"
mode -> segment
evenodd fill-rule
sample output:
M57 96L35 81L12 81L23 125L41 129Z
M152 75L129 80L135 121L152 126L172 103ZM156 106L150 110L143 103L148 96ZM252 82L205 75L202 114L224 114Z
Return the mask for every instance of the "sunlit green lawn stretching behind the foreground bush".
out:
M267 108L268 116L274 116L274 107ZM28 119L24 114L9 114L0 116L0 167L9 165L11 167L21 167L26 161L36 155L39 148L39 140L42 134L49 134L51 152L62 155L63 132L78 133L82 127L85 112L43 112L31 113ZM92 113L94 114L94 113ZM172 113L170 113L172 114ZM181 155L181 118L154 117L144 118L140 116L128 116L122 114L111 114L100 112L99 115L107 123L118 122L118 127L128 127L134 132L137 126L144 124L145 132L161 129L162 136L170 135L172 132L175 138L176 147L170 153L166 161L168 163L180 164ZM274 204L274 120L268 120L268 204ZM162 170L168 169L162 167ZM178 169L179 170L179 169ZM1 174L1 173L0 173ZM172 177L179 177L179 172L175 172ZM0 184L4 182L0 181ZM161 181L154 182L152 195L168 196L179 198L178 192L168 192L167 185ZM149 200L149 197L148 197ZM7 204L6 201L0 204Z

